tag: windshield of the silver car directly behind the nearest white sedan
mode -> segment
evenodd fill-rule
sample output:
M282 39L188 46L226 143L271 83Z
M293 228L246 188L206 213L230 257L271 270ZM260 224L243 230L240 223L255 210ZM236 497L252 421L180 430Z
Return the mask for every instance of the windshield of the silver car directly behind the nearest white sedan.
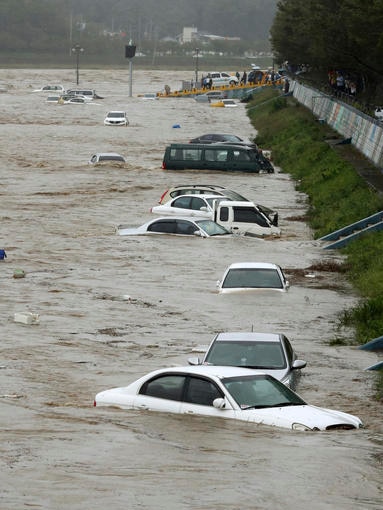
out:
M279 342L216 341L206 354L204 363L282 370L286 360Z

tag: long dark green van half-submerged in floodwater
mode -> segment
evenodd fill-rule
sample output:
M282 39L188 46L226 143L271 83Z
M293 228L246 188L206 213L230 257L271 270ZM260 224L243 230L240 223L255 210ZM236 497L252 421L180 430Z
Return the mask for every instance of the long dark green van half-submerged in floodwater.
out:
M247 145L173 143L166 147L164 170L227 170L273 173L262 151Z

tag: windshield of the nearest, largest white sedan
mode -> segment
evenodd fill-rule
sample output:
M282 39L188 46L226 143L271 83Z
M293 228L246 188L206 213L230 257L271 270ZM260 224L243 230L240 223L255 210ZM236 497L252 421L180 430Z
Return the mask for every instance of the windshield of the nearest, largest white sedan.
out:
M228 377L222 383L241 409L306 405L287 386L268 375Z

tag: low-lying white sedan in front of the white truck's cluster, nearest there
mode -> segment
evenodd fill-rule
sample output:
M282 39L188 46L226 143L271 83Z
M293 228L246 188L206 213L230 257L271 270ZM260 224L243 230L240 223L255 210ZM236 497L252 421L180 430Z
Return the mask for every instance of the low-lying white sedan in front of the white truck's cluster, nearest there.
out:
M119 225L117 233L120 236L135 236L145 234L174 234L199 237L230 236L231 232L209 219L196 218L156 218L148 221L140 227L126 227Z

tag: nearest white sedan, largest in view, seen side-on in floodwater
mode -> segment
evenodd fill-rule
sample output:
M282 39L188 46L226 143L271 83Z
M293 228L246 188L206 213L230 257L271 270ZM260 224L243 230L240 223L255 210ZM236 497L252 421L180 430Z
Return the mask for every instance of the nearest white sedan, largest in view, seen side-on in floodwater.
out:
M363 426L351 414L307 404L270 375L237 367L156 370L129 386L97 393L94 406L212 416L301 431Z

